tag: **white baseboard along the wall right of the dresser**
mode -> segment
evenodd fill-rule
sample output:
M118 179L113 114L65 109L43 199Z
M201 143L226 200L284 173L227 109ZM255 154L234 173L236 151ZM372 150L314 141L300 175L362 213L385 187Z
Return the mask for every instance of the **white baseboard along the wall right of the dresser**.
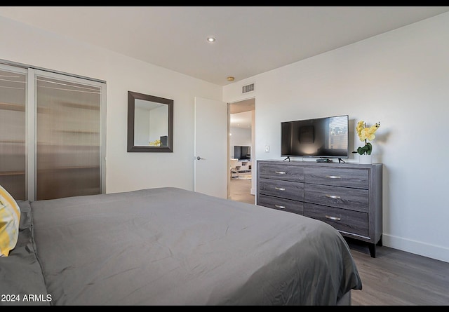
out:
M382 245L394 249L411 252L443 262L449 262L449 248L437 245L430 245L417 240L409 240L398 236L382 234Z

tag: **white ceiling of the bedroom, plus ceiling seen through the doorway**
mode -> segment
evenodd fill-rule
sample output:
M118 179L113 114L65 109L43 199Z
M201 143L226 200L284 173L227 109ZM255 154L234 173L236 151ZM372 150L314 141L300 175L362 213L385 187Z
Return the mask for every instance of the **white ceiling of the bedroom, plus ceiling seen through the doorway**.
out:
M449 11L449 6L0 6L0 15L218 86ZM209 43L206 38L215 37ZM248 127L254 99L232 105ZM234 110L236 109L236 110ZM246 121L241 118L246 116ZM238 118L237 118L238 117Z

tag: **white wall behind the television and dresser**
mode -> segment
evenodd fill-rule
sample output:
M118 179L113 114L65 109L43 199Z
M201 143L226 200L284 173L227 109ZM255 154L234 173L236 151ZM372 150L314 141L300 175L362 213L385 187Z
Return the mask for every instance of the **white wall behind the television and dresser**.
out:
M281 121L349 114L351 150L357 121L380 121L383 243L449 262L448 51L445 13L233 83L223 100L243 99L241 86L255 82L256 159L281 159Z

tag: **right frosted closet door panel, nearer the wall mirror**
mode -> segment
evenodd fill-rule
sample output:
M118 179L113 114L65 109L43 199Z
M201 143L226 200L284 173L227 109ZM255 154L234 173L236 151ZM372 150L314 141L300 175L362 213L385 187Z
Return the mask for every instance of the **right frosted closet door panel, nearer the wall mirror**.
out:
M102 194L104 84L35 73L36 199Z

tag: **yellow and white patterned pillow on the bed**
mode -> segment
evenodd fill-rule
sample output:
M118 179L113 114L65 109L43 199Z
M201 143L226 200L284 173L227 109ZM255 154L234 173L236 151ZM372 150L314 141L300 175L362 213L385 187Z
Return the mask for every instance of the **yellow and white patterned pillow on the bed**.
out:
M20 208L0 185L0 257L8 257L19 237Z

